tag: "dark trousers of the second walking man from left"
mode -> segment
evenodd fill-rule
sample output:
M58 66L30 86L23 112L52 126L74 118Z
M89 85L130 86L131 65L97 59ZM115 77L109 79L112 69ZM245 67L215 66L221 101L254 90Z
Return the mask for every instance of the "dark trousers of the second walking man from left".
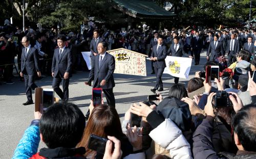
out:
M63 92L59 88L61 81L62 81L62 78L58 73L56 77L53 77L52 88L63 101L68 101L69 100L69 78L66 80L63 79L63 83L62 83Z

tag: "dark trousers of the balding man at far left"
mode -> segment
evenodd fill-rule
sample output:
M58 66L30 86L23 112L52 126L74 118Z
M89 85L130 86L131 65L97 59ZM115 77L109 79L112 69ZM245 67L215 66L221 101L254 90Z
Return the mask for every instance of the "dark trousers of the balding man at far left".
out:
M35 90L35 88L37 88L35 84L35 75L24 74L24 80L25 80L25 89L26 89L26 95L27 95L28 101L33 101L32 90Z

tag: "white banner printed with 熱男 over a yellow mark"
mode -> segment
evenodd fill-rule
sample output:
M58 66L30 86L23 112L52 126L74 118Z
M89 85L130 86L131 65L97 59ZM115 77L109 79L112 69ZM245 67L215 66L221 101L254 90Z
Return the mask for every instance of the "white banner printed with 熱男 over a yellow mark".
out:
M165 58L166 68L163 73L170 74L175 77L188 78L191 68L192 59L167 56Z

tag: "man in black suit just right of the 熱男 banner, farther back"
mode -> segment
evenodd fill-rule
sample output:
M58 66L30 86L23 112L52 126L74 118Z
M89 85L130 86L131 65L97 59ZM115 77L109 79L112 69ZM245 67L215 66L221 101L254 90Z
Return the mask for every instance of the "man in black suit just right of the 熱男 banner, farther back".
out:
M198 31L196 31L196 36L191 41L191 46L192 46L191 51L194 52L195 65L199 64L202 45L203 45L202 38L199 37Z

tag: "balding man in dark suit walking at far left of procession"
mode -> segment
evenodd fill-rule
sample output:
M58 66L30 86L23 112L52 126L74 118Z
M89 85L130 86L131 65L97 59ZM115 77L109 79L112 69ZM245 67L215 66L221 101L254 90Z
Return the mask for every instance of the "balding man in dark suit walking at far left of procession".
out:
M20 76L24 76L25 89L28 100L23 105L33 104L32 89L37 88L35 84L35 71L40 77L40 67L38 62L38 50L30 45L29 37L22 38L22 61Z

